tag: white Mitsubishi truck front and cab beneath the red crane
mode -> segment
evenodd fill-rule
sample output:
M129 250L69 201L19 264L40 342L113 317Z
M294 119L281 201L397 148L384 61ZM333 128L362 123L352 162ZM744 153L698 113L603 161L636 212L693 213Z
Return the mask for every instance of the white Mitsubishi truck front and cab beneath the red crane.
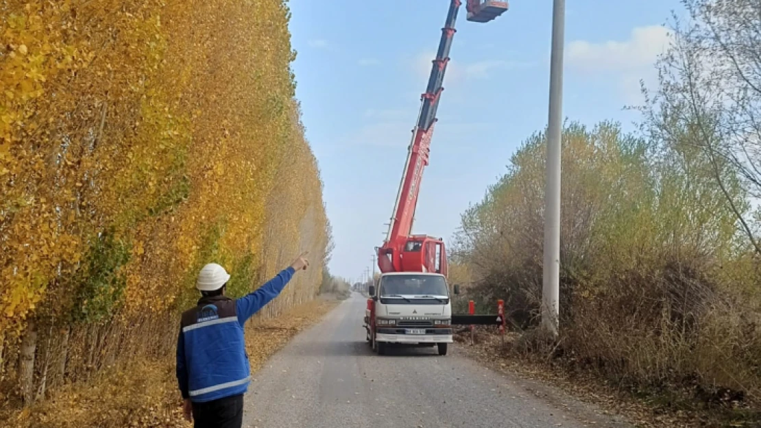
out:
M457 293L455 287L455 293ZM383 355L387 344L428 344L447 354L452 305L447 278L427 272L380 274L365 309L367 341Z

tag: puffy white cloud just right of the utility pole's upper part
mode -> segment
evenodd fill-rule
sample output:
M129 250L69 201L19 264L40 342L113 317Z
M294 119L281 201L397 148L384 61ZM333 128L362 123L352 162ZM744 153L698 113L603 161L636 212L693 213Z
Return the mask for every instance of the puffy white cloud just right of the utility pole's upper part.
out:
M671 40L665 27L636 27L629 40L591 43L574 40L568 43L568 65L584 71L632 71L649 68Z

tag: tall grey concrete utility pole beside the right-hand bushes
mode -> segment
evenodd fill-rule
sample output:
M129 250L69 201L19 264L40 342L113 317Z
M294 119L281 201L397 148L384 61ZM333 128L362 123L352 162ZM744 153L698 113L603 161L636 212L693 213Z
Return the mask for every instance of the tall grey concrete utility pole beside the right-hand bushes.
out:
M565 0L552 3L552 54L549 61L546 185L544 192L544 264L542 325L558 334L560 313L560 152L563 97Z

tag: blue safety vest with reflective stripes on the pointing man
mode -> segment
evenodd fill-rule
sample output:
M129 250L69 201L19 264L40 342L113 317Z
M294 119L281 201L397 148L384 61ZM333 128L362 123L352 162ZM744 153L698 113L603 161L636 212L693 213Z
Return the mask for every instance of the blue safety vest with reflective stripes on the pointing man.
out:
M225 296L205 297L183 313L180 334L191 401L212 401L248 389L248 355L236 306Z

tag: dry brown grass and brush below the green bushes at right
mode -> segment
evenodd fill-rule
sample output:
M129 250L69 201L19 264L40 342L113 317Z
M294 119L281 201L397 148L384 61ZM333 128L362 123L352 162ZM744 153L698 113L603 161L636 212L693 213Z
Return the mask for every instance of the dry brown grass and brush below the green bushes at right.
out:
M562 277L559 341L537 334L540 274L521 282L516 269L516 279L505 281L510 293L500 294L496 281L474 289L483 300L504 297L508 319L521 331L508 341L501 362L516 360L521 368L537 367L535 373L556 373L553 380L572 379L574 391L591 385L584 396L607 388L613 394L607 404L626 403L623 411L646 404L633 412L635 420L650 421L642 426L663 426L664 418L667 426L761 426L761 300L755 290L743 294L743 283L721 269L667 256L638 269L590 265L587 271L600 277ZM756 284L753 278L747 284ZM515 295L530 296L530 304L510 299ZM526 312L532 316L521 318Z

